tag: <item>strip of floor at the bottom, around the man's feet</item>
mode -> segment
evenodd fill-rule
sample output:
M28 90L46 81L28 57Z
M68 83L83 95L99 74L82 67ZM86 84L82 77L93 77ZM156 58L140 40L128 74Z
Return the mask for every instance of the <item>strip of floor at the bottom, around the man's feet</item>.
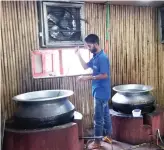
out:
M88 150L91 148L91 144L88 146ZM102 142L102 148L99 150L160 150L158 147L150 144L141 145L140 147L132 146L126 143L114 141L112 145ZM96 149L94 149L96 150Z

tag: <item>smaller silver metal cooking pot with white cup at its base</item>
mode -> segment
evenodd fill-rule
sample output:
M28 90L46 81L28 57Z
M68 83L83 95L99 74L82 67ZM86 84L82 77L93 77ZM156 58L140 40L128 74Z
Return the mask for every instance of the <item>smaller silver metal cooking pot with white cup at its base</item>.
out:
M113 88L117 93L112 97L115 111L131 114L133 109L141 109L142 114L152 112L155 98L151 95L151 86L141 84L119 85Z

